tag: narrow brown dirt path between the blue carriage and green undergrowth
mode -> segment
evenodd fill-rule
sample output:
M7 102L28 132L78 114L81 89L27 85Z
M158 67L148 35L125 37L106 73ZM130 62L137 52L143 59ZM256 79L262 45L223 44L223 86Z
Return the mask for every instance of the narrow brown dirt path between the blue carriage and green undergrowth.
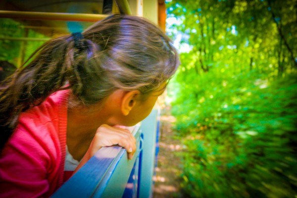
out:
M181 174L181 162L176 153L182 149L182 144L175 138L175 132L172 130L174 122L175 118L168 113L160 117L161 137L153 198L181 197L178 181L178 176Z

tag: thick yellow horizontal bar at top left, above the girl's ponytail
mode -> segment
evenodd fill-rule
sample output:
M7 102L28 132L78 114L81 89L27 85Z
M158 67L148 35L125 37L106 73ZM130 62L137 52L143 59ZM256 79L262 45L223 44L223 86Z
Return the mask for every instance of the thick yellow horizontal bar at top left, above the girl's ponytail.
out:
M30 20L59 20L95 22L108 17L108 14L83 14L59 12L28 12L0 10L0 18L18 18Z

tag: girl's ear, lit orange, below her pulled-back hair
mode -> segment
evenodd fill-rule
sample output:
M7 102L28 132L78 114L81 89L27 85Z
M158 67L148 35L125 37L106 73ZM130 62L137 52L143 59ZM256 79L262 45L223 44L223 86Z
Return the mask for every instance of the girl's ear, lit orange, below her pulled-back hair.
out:
M128 115L140 97L140 91L133 90L126 92L121 104L121 111L123 115Z

